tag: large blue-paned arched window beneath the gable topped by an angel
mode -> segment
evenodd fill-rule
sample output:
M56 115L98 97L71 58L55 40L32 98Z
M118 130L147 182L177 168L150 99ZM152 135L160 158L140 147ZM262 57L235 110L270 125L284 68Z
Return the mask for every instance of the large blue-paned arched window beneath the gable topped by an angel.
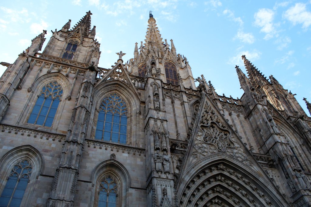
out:
M117 93L101 101L96 125L95 139L126 143L128 108Z

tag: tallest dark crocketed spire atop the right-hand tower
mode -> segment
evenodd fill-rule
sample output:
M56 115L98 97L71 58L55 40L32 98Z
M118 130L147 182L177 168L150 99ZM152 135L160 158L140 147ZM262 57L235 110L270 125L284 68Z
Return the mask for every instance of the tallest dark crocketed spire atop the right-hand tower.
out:
M255 88L262 87L263 85L269 84L269 81L256 69L256 67L246 59L245 55L242 55L245 68L248 73L249 80L253 83Z

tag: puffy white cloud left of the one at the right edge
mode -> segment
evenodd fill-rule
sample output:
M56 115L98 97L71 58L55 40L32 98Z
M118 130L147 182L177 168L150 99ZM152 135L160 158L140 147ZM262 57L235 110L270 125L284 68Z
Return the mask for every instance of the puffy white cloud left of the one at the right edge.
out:
M264 39L268 40L272 38L275 34L273 25L274 11L266 8L259 9L258 12L254 14L254 18L254 25L261 27L261 32L267 33Z

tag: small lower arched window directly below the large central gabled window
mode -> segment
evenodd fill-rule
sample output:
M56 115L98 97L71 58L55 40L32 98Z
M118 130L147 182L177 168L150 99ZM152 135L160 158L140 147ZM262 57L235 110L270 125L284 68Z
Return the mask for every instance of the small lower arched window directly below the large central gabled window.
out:
M100 182L98 191L98 207L116 207L118 197L118 185L110 175Z

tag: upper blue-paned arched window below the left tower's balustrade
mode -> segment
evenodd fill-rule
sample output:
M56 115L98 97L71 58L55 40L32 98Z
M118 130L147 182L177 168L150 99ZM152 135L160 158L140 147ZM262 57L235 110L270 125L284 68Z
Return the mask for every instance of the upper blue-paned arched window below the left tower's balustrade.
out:
M38 99L29 116L28 123L52 126L56 110L63 95L63 88L57 81L46 84L40 91Z

